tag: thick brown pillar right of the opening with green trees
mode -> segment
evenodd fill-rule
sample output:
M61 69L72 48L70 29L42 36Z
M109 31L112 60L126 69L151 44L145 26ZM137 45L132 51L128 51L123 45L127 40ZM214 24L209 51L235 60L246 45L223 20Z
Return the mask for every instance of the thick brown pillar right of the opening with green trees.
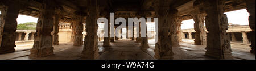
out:
M33 48L30 50L30 57L46 57L53 55L52 35L53 16L55 14L55 2L43 1L40 6L40 16L36 26L36 35Z

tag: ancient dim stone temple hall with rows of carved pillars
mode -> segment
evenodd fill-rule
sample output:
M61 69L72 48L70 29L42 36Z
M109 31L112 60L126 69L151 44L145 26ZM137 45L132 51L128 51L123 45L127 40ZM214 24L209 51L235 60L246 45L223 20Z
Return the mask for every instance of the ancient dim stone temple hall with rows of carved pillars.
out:
M229 26L228 17L224 12L240 9L247 9L249 12L249 26ZM15 41L31 40L34 43L27 56L29 59L47 57L55 59L57 56L62 56L56 55L55 51L60 51L63 47L75 49L76 51L70 51L70 54L72 52L79 54L69 57L76 59L91 60L115 56L107 55L106 51L123 57L122 59L131 55L125 52L136 53L131 56L144 57L143 59L148 57L160 60L177 59L177 57L183 59L183 55L179 54L180 51L176 50L182 46L182 39L193 38L195 45L205 45L201 47L205 49L205 57L234 59L230 42L242 41L250 44L250 53L254 55L255 60L255 0L8 0L0 1L0 11L0 54L2 55L15 53ZM117 32L118 34L126 32L126 36L99 39L100 35L97 32L100 29L108 30L108 35L113 34L110 28L99 28L97 24L98 18L104 17L109 20L110 13L115 14L115 19L122 17L126 21L135 17L158 18L157 27L146 25L151 27L146 30L157 28L158 36L148 35L156 33L147 31L146 37L141 37L140 22L137 23L139 28L134 26L135 23L131 27L133 37L128 37L131 34L127 30L129 27L126 27L125 31ZM16 19L19 14L38 18L36 30L16 30ZM181 30L181 22L188 19L194 20L195 28ZM114 25L114 30L118 26ZM109 21L108 27L110 27ZM135 30L139 30L139 37L135 37L137 35ZM158 37L158 41L153 44L148 43L149 39L154 37ZM127 41L122 41L122 38L126 38ZM63 43L61 46L60 41L72 42L72 44ZM150 50L152 45L154 49ZM122 50L122 48L131 50ZM120 50L122 55L114 52ZM144 56L142 52L148 52L149 55Z

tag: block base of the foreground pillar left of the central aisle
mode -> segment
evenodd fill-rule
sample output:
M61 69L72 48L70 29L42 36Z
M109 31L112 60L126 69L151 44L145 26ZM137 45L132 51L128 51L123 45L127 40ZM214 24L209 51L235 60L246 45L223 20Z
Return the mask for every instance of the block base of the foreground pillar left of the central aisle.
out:
M82 51L81 59L84 60L95 60L98 59L100 55L98 54L98 50L96 51Z

